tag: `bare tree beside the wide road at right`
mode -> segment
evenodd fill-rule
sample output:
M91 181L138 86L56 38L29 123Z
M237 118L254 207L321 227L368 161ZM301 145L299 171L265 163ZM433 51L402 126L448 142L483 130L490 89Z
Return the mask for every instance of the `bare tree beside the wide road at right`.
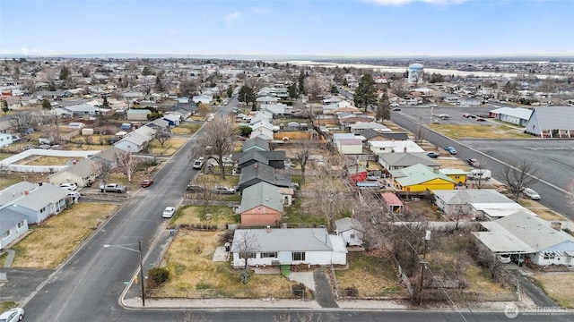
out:
M537 182L537 168L528 160L509 162L502 169L502 179L508 185L510 194L518 200L520 193L528 185Z

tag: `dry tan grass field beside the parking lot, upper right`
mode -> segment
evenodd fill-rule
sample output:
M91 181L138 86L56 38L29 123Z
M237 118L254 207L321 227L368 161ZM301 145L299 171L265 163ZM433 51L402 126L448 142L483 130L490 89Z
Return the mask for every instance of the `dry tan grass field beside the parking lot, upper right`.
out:
M450 139L526 139L532 138L531 135L504 124L430 124L427 125L431 130L448 136Z

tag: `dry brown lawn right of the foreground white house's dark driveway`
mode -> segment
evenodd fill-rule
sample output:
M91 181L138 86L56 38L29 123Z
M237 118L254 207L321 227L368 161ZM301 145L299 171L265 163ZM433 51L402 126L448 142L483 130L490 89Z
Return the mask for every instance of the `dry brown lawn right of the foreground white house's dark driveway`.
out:
M381 291L397 291L403 287L390 258L380 258L368 252L347 254L348 269L335 270L339 290L344 294L348 287L356 287L360 297L380 296Z

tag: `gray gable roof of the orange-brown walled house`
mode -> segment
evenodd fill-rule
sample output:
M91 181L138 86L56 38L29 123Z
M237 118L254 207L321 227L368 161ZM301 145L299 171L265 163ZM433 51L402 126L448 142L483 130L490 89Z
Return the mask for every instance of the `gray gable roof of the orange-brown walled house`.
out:
M283 212L283 195L279 193L279 187L268 182L259 182L241 192L239 213L258 206Z

